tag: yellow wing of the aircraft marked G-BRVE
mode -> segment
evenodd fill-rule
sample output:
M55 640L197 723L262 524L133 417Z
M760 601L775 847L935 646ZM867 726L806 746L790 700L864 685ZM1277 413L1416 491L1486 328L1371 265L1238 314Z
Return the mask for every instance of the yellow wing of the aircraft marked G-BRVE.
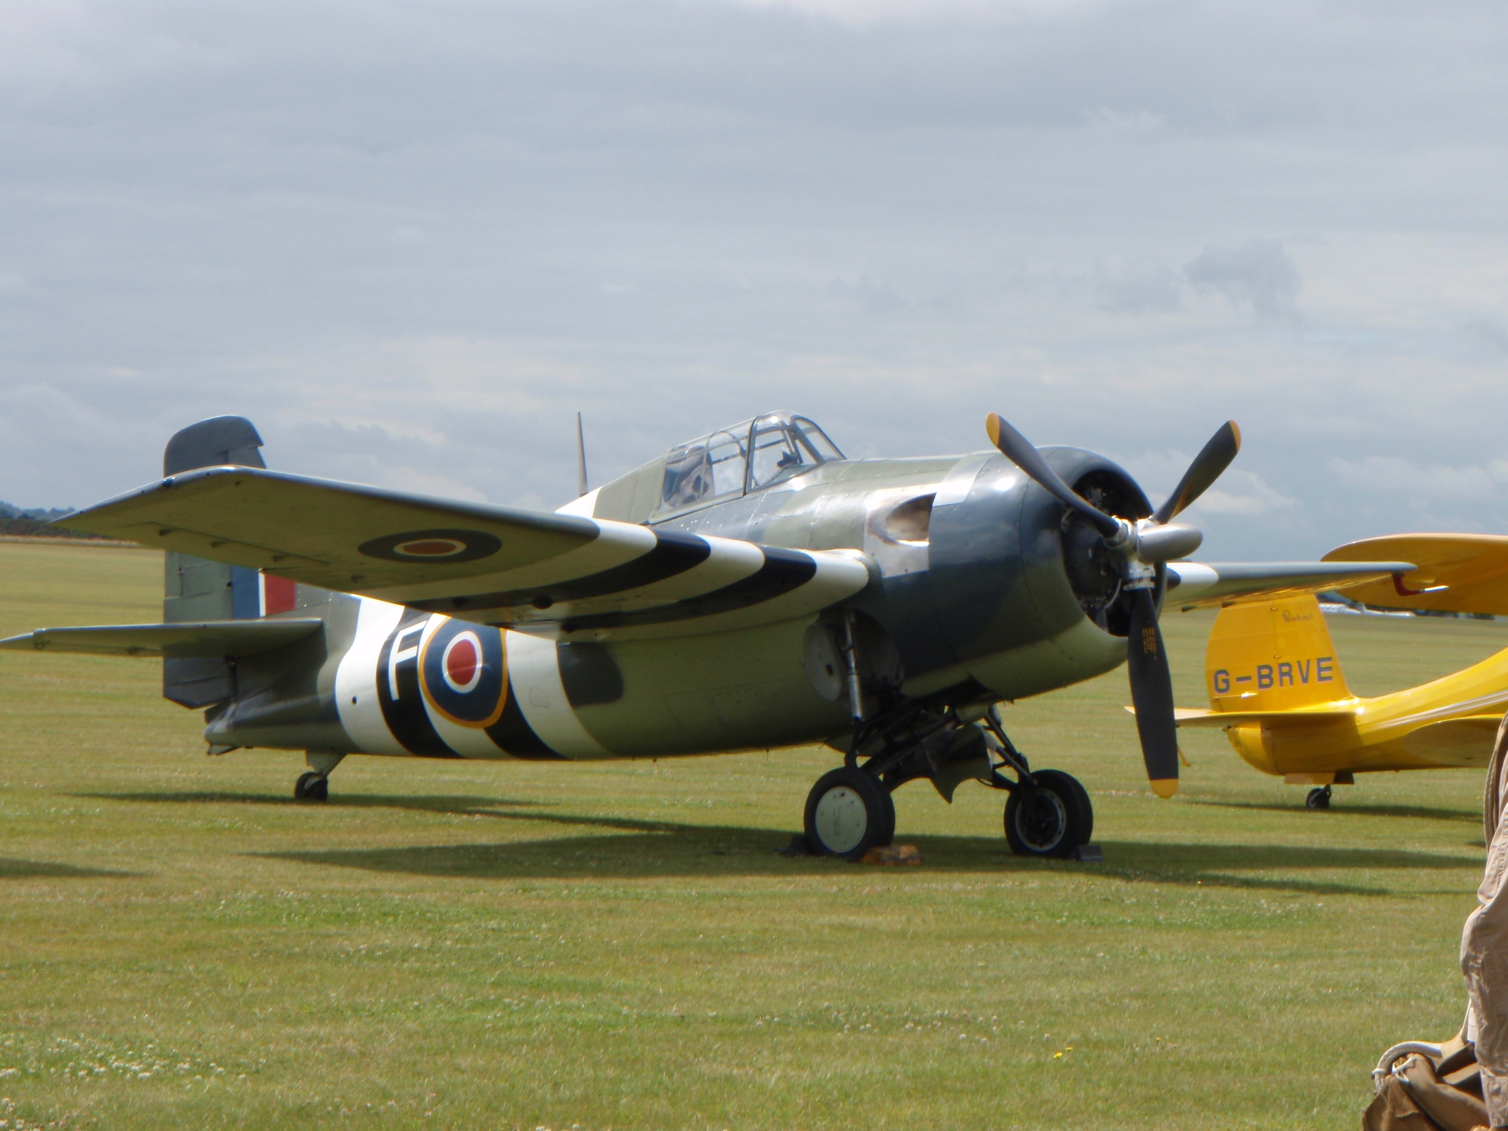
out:
M1399 558L1415 562L1341 590L1351 600L1392 609L1508 615L1508 537L1500 534L1392 534L1338 546L1326 561Z

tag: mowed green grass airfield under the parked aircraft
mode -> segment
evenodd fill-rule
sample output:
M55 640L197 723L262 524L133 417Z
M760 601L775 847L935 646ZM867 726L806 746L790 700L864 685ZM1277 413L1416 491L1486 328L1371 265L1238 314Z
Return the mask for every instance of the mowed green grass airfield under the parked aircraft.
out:
M161 558L0 544L0 630L157 620ZM1203 706L1212 617L1169 614ZM1332 623L1362 694L1508 624ZM151 661L0 653L11 1126L1341 1128L1464 1007L1481 774L1330 813L1188 733L1154 798L1123 673L1006 709L1105 863L1003 796L896 795L918 869L777 855L822 749L606 763L207 759Z

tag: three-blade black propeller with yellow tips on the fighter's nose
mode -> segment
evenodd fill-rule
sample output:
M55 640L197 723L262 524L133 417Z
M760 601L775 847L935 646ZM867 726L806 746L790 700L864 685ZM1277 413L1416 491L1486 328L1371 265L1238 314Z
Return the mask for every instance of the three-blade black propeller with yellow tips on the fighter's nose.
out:
M1083 514L1099 531L1131 597L1131 630L1126 636L1126 673L1131 703L1142 737L1142 757L1152 792L1170 798L1178 792L1178 724L1173 721L1173 677L1167 667L1163 632L1157 624L1157 566L1199 549L1203 535L1170 519L1203 495L1241 449L1241 430L1226 421L1194 457L1167 501L1151 517L1128 520L1105 514L1063 483L1025 436L995 413L985 421L991 442L1044 490L1065 507Z

